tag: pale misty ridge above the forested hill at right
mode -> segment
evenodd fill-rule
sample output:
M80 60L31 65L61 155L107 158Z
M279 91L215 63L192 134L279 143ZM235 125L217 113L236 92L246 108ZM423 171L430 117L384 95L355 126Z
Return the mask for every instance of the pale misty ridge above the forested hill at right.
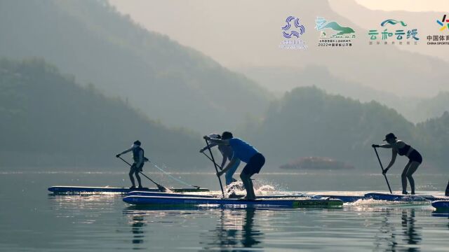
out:
M241 69L248 78L260 85L283 94L295 87L316 86L330 94L358 99L361 102L376 101L395 109L407 120L420 123L441 116L449 111L449 92L439 92L434 97L400 97L390 92L375 90L372 87L344 80L331 74L325 66L306 66L304 69L288 67L252 67ZM273 85L276 83L276 85Z

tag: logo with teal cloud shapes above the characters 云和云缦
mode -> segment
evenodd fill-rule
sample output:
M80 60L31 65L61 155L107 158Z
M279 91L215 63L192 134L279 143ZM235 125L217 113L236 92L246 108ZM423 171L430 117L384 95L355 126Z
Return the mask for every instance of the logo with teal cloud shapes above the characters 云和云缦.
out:
M417 29L407 29L408 27L406 22L402 20L384 20L384 22L380 23L382 27L381 32L377 31L377 29L370 29L368 31L368 36L370 36L370 45L373 45L373 41L376 41L377 45L380 45L380 41L383 41L384 45L388 45L390 41L391 45L398 44L403 45L404 41L406 41L407 45L410 45L410 41L413 41L415 45L417 45L417 41L420 40L418 38L418 30ZM389 27L396 27L395 31L390 31Z

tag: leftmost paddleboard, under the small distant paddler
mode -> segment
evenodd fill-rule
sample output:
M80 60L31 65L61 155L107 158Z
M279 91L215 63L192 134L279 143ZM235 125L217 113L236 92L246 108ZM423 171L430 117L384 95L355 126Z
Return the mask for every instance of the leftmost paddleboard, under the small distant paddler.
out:
M48 188L52 193L130 193L136 188L93 187L93 186L52 186ZM207 188L169 188L174 193L208 192ZM146 192L160 192L157 188L140 188Z

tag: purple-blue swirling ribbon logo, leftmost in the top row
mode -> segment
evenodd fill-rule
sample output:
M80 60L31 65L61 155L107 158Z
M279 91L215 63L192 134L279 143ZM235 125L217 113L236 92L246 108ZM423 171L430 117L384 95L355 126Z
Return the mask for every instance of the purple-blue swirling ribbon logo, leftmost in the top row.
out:
M293 16L286 18L286 25L281 27L282 36L279 48L281 49L306 49L307 44L300 39L300 36L306 31L304 25L301 25L300 19Z

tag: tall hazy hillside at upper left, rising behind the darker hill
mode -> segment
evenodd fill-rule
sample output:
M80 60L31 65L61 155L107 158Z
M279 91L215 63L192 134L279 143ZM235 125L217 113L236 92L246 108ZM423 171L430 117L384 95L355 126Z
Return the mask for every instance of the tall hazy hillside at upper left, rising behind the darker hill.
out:
M252 80L143 29L107 1L0 1L0 34L0 56L43 58L170 126L225 130L268 105Z

